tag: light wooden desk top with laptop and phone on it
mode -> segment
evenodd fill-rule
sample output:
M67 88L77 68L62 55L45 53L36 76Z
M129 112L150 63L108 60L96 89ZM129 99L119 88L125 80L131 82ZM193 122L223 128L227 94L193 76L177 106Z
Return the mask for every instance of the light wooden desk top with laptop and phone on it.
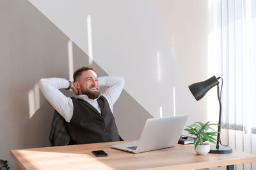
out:
M125 142L11 150L11 155L22 169L182 170L256 162L256 155L236 150L228 154L196 155L193 145L177 145L136 154L110 148L111 145ZM104 150L108 157L95 157L92 150Z

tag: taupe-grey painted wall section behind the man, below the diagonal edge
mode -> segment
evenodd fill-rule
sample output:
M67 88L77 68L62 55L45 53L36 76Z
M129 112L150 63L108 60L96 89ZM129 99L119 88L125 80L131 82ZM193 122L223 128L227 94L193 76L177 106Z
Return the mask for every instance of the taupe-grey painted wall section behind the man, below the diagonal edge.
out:
M54 109L36 83L40 78L69 78L69 39L28 1L0 1L0 16L5 16L0 17L0 158L19 169L10 150L49 146ZM89 65L88 55L76 45L72 52L74 69ZM91 66L99 76L107 75L94 62ZM138 139L145 120L152 117L125 90L113 112L124 139Z

